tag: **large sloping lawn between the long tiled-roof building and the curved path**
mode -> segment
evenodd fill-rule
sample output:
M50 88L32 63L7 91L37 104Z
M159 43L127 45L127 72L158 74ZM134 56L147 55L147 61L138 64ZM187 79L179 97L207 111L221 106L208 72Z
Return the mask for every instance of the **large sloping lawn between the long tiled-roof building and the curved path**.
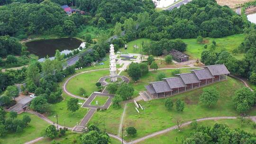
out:
M165 99L155 99L147 102L140 101L139 103L145 107L145 114L142 110L140 110L141 114L138 114L134 104L129 103L124 124L136 127L136 138L139 138L169 126L174 126L177 118L182 118L183 121L190 121L202 117L238 116L239 114L231 101L231 96L238 88L243 86L243 83L230 77L227 81L220 81L209 85L208 87L215 87L220 92L217 106L213 108L203 106L199 102L199 96L203 88L171 97L174 101L177 99L184 100L185 108L183 112L177 112L175 106L172 110L167 110L165 108ZM134 88L135 90L137 89L136 86ZM256 115L256 110L251 110L250 115Z

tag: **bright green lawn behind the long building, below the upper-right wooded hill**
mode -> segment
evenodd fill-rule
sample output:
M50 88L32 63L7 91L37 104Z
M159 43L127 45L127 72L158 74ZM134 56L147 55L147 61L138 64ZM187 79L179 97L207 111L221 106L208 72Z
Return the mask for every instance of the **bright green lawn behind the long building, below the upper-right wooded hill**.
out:
M232 35L232 36L226 36L222 38L206 38L208 43L207 49L204 48L204 44L198 44L196 42L196 38L190 38L190 39L182 39L183 42L185 42L188 47L185 51L186 54L190 55L192 59L201 59L201 53L205 50L210 49L210 45L212 44L212 41L215 40L216 42L216 51L219 52L221 49L225 48L229 53L232 54L232 50L238 48L238 46L244 41L245 35L239 34L239 35ZM241 59L244 54L236 54L233 55L238 59Z

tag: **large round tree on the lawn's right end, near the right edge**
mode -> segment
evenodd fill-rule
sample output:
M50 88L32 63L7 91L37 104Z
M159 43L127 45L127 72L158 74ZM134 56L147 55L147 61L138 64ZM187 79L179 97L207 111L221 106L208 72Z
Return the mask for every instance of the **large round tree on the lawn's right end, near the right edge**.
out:
M243 112L243 113L245 113L247 110L249 110L251 107L254 106L255 99L256 99L255 93L246 87L238 89L235 92L235 95L232 97L232 100L235 104L235 108L239 112ZM247 107L249 107L249 109Z

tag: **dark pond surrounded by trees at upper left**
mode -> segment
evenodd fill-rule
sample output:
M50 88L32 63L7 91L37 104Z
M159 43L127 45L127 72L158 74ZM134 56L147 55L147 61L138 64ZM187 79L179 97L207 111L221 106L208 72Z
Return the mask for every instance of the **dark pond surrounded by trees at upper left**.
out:
M27 50L31 54L37 55L39 58L44 58L46 55L53 57L55 51L58 49L62 54L69 54L73 49L80 46L82 41L68 37L68 38L58 38L58 39L45 39L27 42Z

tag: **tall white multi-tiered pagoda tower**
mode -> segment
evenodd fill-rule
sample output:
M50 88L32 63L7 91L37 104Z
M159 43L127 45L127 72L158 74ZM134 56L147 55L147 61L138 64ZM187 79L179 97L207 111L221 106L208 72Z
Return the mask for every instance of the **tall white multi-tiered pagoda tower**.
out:
M116 55L113 44L110 45L110 81L117 81Z

